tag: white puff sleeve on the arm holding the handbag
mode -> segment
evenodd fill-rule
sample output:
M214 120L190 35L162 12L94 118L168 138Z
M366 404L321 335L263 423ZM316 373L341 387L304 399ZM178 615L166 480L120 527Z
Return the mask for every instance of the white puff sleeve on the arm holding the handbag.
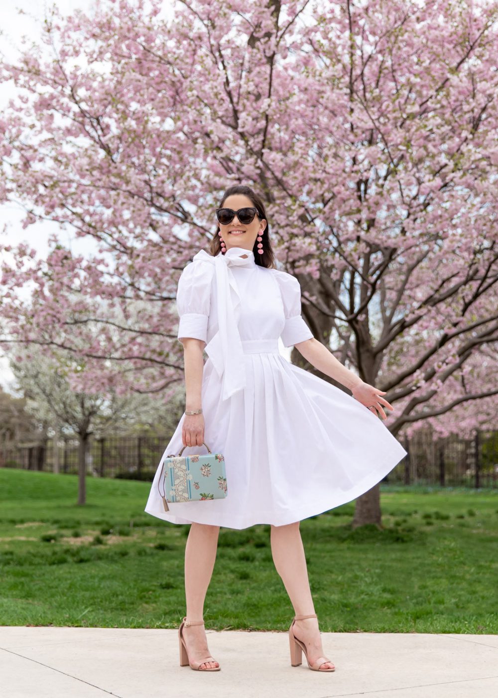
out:
M203 262L190 262L181 272L176 290L180 342L185 337L207 342L212 279L213 265Z

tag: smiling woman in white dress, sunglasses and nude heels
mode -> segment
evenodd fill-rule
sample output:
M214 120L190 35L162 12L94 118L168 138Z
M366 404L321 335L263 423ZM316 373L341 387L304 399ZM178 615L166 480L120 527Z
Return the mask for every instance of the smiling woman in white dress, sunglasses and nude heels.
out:
M375 418L385 419L383 408L392 409L385 392L363 383L313 339L301 317L299 282L274 267L262 199L247 186L233 186L216 214L211 254L197 253L179 279L186 413L163 459L182 445L195 454L205 443L225 456L227 496L171 503L165 512L158 491L161 459L145 509L191 524L180 663L220 669L209 655L202 621L220 526L269 523L273 561L296 614L289 628L292 666L301 664L304 651L310 669L333 671L322 649L299 521L368 491L406 451ZM352 396L287 362L279 337Z

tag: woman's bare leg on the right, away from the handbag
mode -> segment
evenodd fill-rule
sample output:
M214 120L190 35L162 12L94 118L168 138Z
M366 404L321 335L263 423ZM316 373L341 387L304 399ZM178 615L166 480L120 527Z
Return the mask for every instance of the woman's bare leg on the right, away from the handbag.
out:
M271 526L270 541L273 562L289 594L294 614L308 616L315 613L299 521L288 523L287 526ZM294 631L296 637L308 648L310 664L323 657L317 618L296 621ZM326 662L322 664L322 669L333 669L333 666L333 662Z

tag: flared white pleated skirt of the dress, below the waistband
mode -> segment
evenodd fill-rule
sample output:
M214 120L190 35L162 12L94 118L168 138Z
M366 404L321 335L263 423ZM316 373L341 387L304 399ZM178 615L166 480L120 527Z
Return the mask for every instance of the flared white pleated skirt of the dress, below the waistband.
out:
M359 401L287 362L278 339L242 344L243 391L223 401L210 359L202 379L204 442L225 458L226 498L169 503L165 512L158 484L165 456L183 447L183 414L158 464L148 514L237 529L283 526L356 499L407 454ZM186 447L182 455L197 453L207 453L206 447Z

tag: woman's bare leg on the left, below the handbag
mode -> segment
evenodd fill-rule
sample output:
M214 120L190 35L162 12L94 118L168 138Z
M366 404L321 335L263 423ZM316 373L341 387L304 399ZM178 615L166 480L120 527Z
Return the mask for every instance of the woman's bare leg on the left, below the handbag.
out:
M185 596L188 621L202 621L204 599L211 581L218 547L220 526L208 526L205 523L190 524L190 531L185 547ZM204 625L189 625L183 628L183 639L190 655L190 660L199 661L209 656ZM218 662L204 662L201 669L219 667Z

